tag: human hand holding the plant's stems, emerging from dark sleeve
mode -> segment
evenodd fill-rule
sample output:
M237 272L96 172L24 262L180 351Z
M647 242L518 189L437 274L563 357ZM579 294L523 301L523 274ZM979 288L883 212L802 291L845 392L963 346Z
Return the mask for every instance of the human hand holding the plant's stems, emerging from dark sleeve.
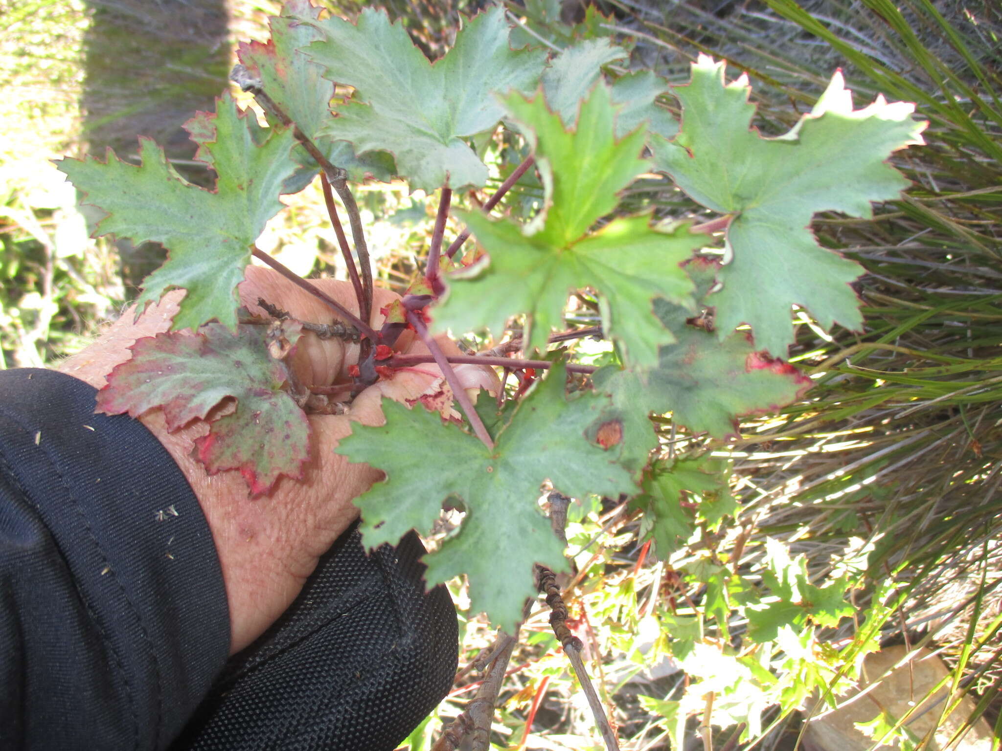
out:
M312 281L358 314L351 284L335 279ZM324 302L271 269L248 266L238 289L242 304L253 313L264 314L257 303L262 297L301 320L316 323L339 320ZM182 290L167 293L135 322L133 310L127 310L97 341L66 359L59 369L102 388L112 368L129 359L128 347L136 339L169 329L182 295ZM396 297L388 290L375 290L370 323L377 330L384 317L380 307ZM447 337L437 340L447 354L459 353ZM394 348L410 354L428 351L412 331L405 331ZM304 332L291 364L301 383L332 386L350 381L348 367L358 362L358 356L357 343L320 339ZM457 365L455 369L468 389L498 388L497 378L488 367ZM382 476L368 465L350 464L334 453L338 442L351 433L351 422L381 425L382 397L398 402L416 399L440 374L434 363L398 370L393 379L380 381L360 394L349 414L309 416L313 442L302 480L280 478L271 492L254 499L249 498L239 473L229 471L209 476L195 461L194 440L208 432L205 423L194 421L168 433L159 409L140 416L139 420L184 474L208 522L229 606L230 654L249 645L292 604L320 557L358 517L352 500Z

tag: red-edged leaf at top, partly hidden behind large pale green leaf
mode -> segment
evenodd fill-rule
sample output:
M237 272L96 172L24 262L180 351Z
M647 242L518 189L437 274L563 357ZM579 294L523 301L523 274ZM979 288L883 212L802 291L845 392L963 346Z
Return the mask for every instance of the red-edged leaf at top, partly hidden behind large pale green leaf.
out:
M332 119L330 101L334 96L334 84L324 78L324 68L311 62L302 51L303 47L322 39L323 35L313 26L296 20L316 20L320 11L310 0L288 0L282 16L269 18L272 38L264 44L241 42L236 48L236 56L247 71L261 80L265 93L332 164L348 171L350 179L361 181L372 175L378 180L388 181L394 173L393 158L389 154L375 152L359 157L347 141L336 141L320 134L324 125ZM273 126L281 125L274 112L266 111L266 114ZM312 179L319 170L316 160L302 145L297 145L293 153ZM289 189L291 187L295 186L287 185L286 192L295 192Z

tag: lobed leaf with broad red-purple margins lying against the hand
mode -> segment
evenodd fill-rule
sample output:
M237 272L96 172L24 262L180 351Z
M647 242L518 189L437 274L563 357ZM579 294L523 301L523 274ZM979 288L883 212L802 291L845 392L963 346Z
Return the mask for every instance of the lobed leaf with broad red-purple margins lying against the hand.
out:
M297 332L289 332L292 341ZM264 326L218 323L197 333L174 331L138 339L132 358L116 365L97 393L97 412L133 418L161 408L167 430L209 420L195 440L209 475L239 470L253 495L268 493L282 475L302 477L310 458L310 423L283 390L285 366L268 355ZM232 412L210 412L235 400Z

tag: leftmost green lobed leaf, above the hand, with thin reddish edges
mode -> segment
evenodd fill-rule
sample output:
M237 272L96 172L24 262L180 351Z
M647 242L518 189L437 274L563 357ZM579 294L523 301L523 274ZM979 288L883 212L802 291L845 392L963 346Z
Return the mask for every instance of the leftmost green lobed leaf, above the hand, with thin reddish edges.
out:
M143 280L137 314L171 287L187 290L171 328L196 329L217 319L236 329L236 285L250 250L283 204L279 193L297 164L291 130L274 130L258 145L259 126L224 94L216 100L215 140L202 143L218 174L213 191L185 182L148 138L139 139L140 166L108 149L107 161L62 159L59 169L108 215L97 234L160 242L167 260ZM114 157L114 158L112 158Z

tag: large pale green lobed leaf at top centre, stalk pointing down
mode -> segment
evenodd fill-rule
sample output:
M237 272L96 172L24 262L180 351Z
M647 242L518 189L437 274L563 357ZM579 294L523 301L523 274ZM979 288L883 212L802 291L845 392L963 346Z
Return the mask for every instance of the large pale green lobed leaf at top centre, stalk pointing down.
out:
M386 11L366 8L357 25L300 18L321 34L307 56L331 80L355 87L321 132L359 154L389 151L398 173L427 192L487 181L487 166L463 139L494 129L504 112L496 94L530 90L545 61L542 50L511 48L501 7L469 20L434 65Z

